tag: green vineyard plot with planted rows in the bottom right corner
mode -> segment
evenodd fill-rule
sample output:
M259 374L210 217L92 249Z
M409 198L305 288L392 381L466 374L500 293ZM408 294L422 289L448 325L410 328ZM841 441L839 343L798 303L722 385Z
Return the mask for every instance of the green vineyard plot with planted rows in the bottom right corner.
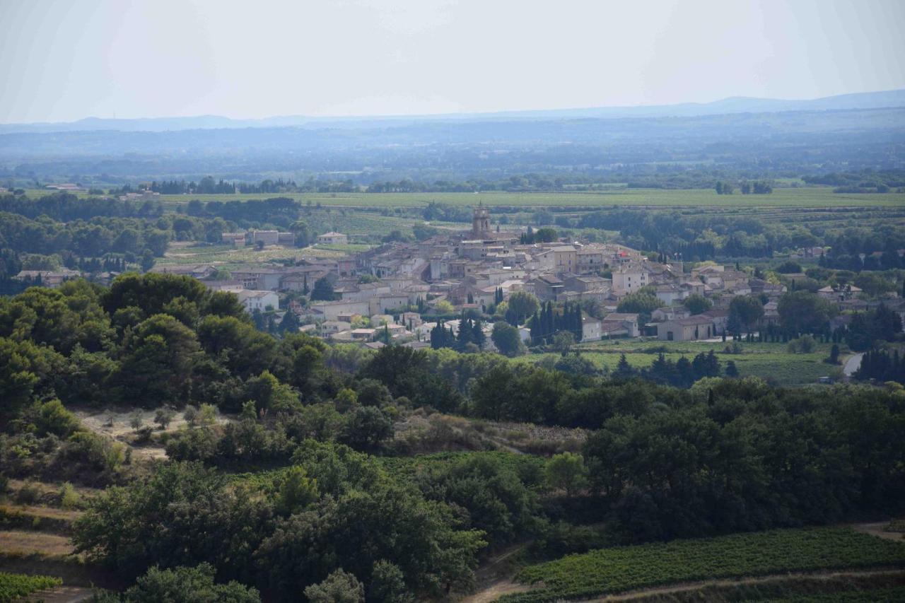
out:
M905 544L849 527L774 530L569 555L521 570L516 579L542 586L500 601L541 603L702 579L903 566Z

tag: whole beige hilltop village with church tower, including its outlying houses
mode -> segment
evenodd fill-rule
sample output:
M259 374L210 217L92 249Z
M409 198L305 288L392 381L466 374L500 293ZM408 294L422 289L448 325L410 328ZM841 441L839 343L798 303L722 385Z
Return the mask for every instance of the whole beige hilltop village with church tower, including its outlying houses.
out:
M276 230L224 233L223 241L259 249L294 243L291 233ZM330 232L316 241L347 244L348 236ZM813 257L824 250L801 252ZM557 239L551 229L500 230L491 226L485 206L474 208L471 230L383 244L341 258L252 265L225 276L215 264L164 265L153 272L187 274L211 290L233 292L262 329L268 322L271 330L289 324L324 340L374 349L390 341L416 349L433 341L436 347L432 333L442 328L455 338L463 319L469 328L481 330L482 335L472 339L489 350L497 349L491 332L498 321L518 329L519 340L528 346L550 342L559 330L571 332L576 341L641 336L717 340L742 330L764 333L778 330L778 300L788 285L794 289L796 280L807 278L805 273L785 273L783 282L769 282L738 265L692 267L681 258L651 257L622 244ZM51 287L78 276L78 271L19 275L40 278ZM851 312L844 311L869 310L881 303L865 301L860 292L852 284L817 292L843 311L831 322L831 330L851 320ZM510 299L517 293L521 302L510 311ZM644 307L627 311L624 306L635 304L622 304L620 309L632 299L628 296L638 293L644 294ZM739 296L756 297L763 311L757 310L745 324L732 324L729 307ZM526 298L531 300L527 310ZM699 302L689 303L689 298ZM900 297L891 295L882 303L905 320ZM538 317L545 312L548 320L542 321Z

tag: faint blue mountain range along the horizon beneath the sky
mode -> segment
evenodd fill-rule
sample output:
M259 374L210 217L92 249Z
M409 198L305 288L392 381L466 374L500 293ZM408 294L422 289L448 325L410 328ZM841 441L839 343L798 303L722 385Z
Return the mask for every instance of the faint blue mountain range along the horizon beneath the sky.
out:
M184 118L148 118L116 120L86 118L69 122L0 124L0 134L13 132L77 132L77 131L148 131L164 132L186 129L281 128L374 128L405 125L424 121L497 121L497 120L575 120L693 117L733 113L772 113L779 111L853 110L905 107L905 90L840 94L807 101L731 97L721 101L636 107L592 107L586 109L500 111L493 113L449 113L442 115L376 116L376 117L308 117L304 115L271 117L262 120L233 120L217 115Z

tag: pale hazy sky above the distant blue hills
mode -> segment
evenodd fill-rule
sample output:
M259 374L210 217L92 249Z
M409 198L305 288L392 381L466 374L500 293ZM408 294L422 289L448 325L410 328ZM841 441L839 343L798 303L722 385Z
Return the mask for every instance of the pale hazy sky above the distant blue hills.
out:
M905 0L0 0L0 122L905 88Z

